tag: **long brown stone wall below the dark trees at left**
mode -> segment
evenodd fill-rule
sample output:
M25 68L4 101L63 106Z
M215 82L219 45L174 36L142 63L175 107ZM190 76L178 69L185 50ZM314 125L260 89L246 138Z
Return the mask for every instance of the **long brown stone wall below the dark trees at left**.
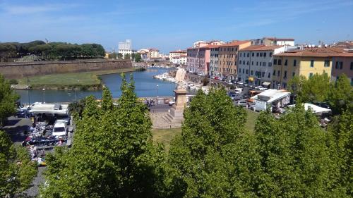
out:
M97 70L132 68L129 60L80 60L80 61L43 61L30 63L0 63L0 73L5 78L15 79L35 75L56 73L78 73Z

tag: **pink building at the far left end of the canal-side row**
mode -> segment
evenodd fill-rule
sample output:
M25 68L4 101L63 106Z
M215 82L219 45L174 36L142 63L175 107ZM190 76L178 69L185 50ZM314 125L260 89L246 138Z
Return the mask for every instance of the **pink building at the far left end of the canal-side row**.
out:
M223 43L220 41L194 43L193 47L187 49L186 69L191 73L208 75L210 70L210 49Z

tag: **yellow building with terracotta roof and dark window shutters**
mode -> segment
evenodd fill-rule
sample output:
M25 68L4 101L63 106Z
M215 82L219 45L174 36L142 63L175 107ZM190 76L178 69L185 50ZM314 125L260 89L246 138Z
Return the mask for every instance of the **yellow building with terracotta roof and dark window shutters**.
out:
M273 58L273 86L286 89L295 75L310 78L316 73L327 73L331 76L332 56L340 52L342 49L339 48L310 48L276 54Z

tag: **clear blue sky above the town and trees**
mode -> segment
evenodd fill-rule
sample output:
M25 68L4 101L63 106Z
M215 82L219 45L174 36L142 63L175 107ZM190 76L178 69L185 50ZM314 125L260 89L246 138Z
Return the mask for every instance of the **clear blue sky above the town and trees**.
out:
M167 53L197 40L264 36L353 40L353 0L0 0L0 42L96 42L111 51L132 39L134 49Z

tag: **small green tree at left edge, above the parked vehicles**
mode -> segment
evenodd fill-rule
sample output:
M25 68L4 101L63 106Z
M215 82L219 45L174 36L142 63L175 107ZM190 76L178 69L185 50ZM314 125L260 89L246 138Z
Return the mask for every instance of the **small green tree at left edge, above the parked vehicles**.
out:
M4 120L16 112L16 101L18 95L11 89L4 76L0 74L0 125L4 124Z

